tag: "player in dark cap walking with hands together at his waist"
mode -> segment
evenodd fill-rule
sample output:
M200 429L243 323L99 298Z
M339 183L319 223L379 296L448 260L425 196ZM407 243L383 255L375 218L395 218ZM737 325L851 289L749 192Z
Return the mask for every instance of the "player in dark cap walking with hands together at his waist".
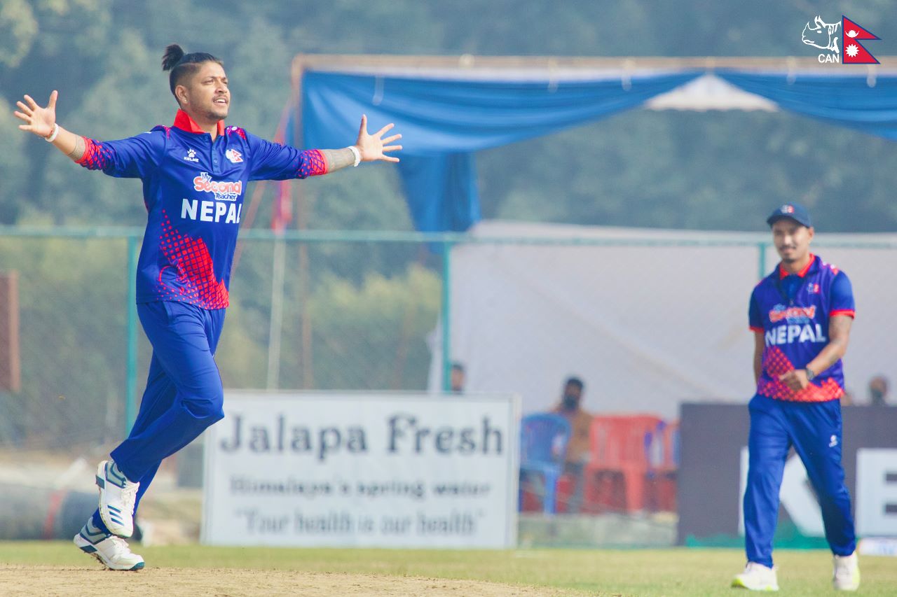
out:
M841 466L844 394L841 357L853 323L845 273L810 253L810 215L787 203L767 219L781 262L751 295L753 374L750 460L745 490L747 566L732 586L778 591L772 536L788 448L794 446L819 498L825 539L834 554L832 584L856 591L859 567L850 496Z

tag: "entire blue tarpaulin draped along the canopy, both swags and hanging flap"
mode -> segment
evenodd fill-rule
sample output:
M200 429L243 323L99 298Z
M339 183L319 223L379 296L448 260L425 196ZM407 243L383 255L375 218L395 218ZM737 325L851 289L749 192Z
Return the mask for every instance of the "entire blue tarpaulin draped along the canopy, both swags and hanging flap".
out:
M463 231L480 219L474 152L554 133L636 108L704 74L667 71L594 79L490 80L308 71L302 77L301 147L342 147L389 122L402 133L399 172L415 229ZM781 108L897 138L897 76L718 76ZM291 132L292 125L287 127Z

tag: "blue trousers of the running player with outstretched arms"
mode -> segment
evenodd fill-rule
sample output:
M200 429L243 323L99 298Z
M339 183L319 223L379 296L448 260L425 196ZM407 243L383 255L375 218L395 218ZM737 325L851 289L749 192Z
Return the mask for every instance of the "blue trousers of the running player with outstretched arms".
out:
M140 482L135 514L162 460L224 418L222 380L213 359L224 309L159 301L137 305L137 316L152 344L150 373L134 427L111 452L118 470ZM93 523L109 532L99 510Z

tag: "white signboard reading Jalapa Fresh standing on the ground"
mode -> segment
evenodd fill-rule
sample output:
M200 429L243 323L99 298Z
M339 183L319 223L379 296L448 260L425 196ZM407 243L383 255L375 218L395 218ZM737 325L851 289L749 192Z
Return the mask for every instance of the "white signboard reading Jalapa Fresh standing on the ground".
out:
M509 548L519 399L226 392L206 431L213 545Z

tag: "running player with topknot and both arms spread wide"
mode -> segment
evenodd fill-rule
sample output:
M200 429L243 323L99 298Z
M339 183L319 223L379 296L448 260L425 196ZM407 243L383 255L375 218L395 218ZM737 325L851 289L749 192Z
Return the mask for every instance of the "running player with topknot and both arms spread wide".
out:
M75 163L109 176L141 178L147 210L137 271L137 314L152 344L140 411L129 436L100 463L100 506L74 537L83 551L112 570L137 570L144 558L122 538L162 459L178 452L224 416L221 376L213 359L228 307L231 260L250 180L305 178L361 161L398 161L402 149L383 138L393 125L354 145L300 151L270 143L238 126L224 126L231 92L222 61L205 53L165 49L179 110L172 126L121 141L94 141L56 122L57 91L46 108L29 96L14 114L27 131L53 143Z

